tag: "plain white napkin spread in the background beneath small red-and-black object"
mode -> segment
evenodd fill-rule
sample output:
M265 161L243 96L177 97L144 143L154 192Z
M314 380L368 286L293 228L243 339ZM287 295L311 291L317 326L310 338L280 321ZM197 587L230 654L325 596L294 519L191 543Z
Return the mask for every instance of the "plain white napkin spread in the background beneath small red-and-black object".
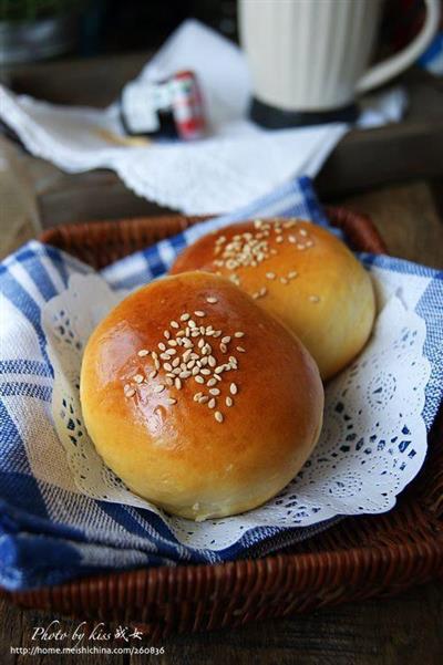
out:
M203 90L210 132L199 142L116 145L110 133L123 134L117 104L106 110L55 106L4 86L0 117L32 154L66 172L112 168L140 196L200 215L245 206L293 176L315 176L349 129L333 123L265 131L249 122L251 84L243 52L195 20L174 32L140 80L157 81L183 69L196 72ZM358 124L400 120L405 100L401 89L369 97Z

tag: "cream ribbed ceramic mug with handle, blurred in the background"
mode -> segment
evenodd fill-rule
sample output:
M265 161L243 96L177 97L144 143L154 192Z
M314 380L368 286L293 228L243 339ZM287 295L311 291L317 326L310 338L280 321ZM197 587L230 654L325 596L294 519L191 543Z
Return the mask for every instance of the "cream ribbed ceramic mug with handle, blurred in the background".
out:
M239 0L255 98L285 112L351 104L426 49L439 25L440 0L425 6L424 25L412 43L368 70L382 0Z

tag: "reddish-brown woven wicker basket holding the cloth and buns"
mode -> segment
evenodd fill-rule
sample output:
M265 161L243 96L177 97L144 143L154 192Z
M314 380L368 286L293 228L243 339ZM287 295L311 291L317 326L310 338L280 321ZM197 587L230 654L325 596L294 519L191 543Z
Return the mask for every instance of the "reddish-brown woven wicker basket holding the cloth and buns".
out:
M367 217L336 208L328 214L353 248L385 251ZM102 268L200 220L172 216L82 224L47 231L42 239ZM277 555L101 574L8 596L52 614L143 624L145 633L159 638L394 594L443 578L442 416L441 411L423 469L388 513L347 518Z

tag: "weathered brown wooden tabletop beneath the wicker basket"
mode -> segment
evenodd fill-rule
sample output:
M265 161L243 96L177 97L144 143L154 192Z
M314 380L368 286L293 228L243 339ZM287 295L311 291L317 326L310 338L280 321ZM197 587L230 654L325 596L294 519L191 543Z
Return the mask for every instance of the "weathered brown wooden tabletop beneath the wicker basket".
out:
M25 155L4 138L0 154L10 159L11 169L0 172L0 257L4 257L39 229L56 221L96 217L97 197L91 197L91 181L100 181L103 195L117 187L114 202L122 206L115 215L146 214L155 206L124 193L112 176L93 173L89 178L66 176L55 167ZM429 176L429 174L425 174ZM441 170L433 167L433 179L400 181L378 186L358 195L334 196L342 204L369 214L392 254L443 269L443 159ZM18 186L20 184L20 186ZM340 189L340 188L339 188ZM25 196L20 193L27 191ZM106 197L99 197L103 216ZM330 200L328 202L331 202ZM81 214L79 212L81 211ZM68 217L68 218L66 218ZM29 656L11 653L11 647L32 646L34 626L60 620L71 633L79 621L22 612L0 600L0 663L21 665ZM44 646L39 642L40 646ZM51 645L53 643L50 643ZM58 646L69 646L69 638ZM140 643L131 645L140 646ZM142 641L142 645L147 646ZM126 646L122 641L106 646ZM441 665L443 662L443 585L414 588L394 599L379 599L319 610L306 615L267 621L239 630L209 634L169 636L165 653L158 656L35 655L33 663L85 665L230 664L251 662L264 665Z

